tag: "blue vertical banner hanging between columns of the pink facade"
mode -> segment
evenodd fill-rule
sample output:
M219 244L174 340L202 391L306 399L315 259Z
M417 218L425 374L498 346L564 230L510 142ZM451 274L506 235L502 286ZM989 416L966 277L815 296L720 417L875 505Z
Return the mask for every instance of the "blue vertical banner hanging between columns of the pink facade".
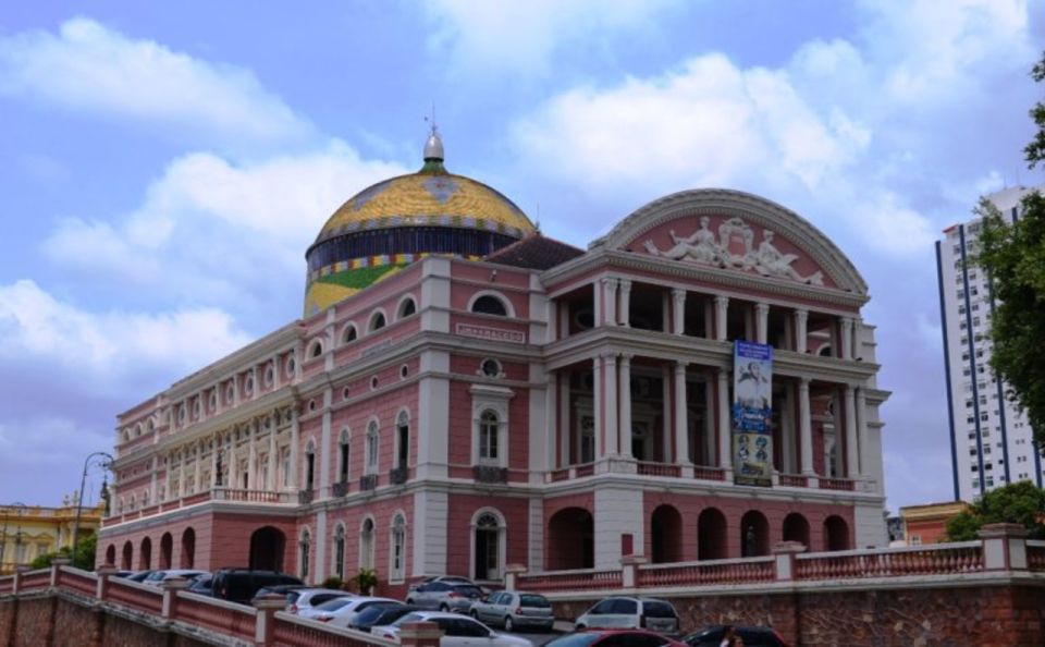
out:
M740 485L773 485L773 346L733 346L733 473Z

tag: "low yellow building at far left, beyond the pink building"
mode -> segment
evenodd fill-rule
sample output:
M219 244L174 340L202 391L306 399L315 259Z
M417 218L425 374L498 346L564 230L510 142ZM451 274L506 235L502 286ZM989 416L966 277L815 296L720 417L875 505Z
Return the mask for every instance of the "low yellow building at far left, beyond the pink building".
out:
M79 515L79 539L98 532L104 501L84 508ZM76 497L66 497L60 508L0 504L0 575L27 564L41 554L73 546Z

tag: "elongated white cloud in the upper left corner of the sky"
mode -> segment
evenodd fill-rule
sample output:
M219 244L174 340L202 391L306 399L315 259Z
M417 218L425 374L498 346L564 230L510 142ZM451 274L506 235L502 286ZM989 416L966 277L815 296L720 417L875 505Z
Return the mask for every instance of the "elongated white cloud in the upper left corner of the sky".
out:
M57 34L0 38L0 93L200 132L225 143L290 142L312 127L254 75L133 39L86 17Z

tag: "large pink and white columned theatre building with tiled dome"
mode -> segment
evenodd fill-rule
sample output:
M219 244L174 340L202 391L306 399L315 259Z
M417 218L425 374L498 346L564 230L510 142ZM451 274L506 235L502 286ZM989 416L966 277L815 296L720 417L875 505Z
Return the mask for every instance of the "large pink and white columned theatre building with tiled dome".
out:
M868 289L820 231L699 190L580 251L442 157L335 212L305 318L119 416L99 563L395 595L887 544ZM772 487L734 484L740 339L774 346Z

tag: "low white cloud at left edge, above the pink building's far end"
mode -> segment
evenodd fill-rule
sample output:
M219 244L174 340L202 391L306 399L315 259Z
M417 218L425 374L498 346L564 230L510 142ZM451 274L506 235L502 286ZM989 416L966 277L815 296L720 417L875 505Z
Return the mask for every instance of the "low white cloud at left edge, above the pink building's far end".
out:
M0 285L0 357L47 362L56 376L71 373L99 388L116 389L144 370L195 370L249 341L217 308L96 314L30 280Z

